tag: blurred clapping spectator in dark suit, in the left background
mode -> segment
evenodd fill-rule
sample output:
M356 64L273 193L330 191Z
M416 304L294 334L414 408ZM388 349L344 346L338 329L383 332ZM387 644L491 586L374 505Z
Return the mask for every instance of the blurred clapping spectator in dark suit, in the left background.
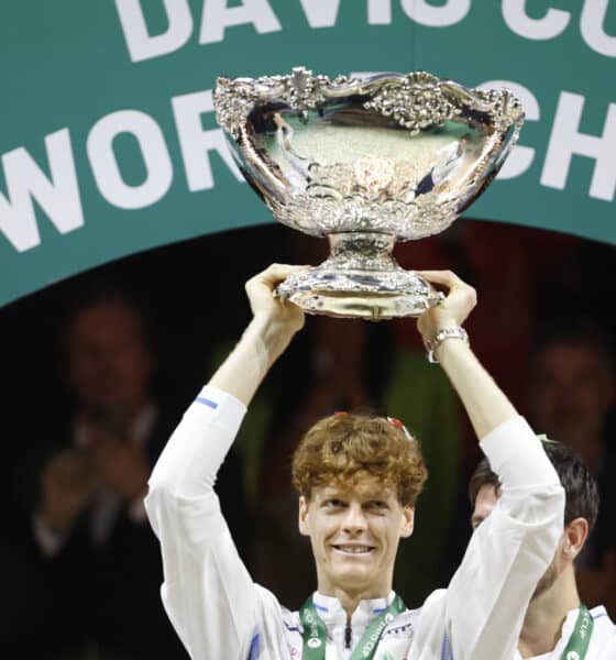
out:
M177 424L150 393L155 361L144 318L122 296L99 292L73 314L65 340L77 405L40 475L32 531L44 593L32 609L46 609L30 641L38 657L62 660L186 658L163 612L158 546L142 502ZM233 455L223 472L217 490L245 553Z

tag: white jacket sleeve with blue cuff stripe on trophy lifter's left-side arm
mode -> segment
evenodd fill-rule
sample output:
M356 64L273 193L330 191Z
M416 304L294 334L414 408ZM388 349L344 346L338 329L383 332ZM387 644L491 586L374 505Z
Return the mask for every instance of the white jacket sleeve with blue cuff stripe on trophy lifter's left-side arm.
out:
M248 658L258 596L213 491L245 407L205 387L150 479L145 507L162 548L162 598L193 660ZM240 484L238 484L240 487Z

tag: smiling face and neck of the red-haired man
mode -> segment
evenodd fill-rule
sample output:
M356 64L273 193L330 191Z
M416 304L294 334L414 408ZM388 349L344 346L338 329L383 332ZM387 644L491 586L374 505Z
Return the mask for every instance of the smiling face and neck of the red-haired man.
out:
M299 498L299 530L309 536L324 595L387 596L400 538L413 532L415 509L393 488L360 481L348 488L318 486Z

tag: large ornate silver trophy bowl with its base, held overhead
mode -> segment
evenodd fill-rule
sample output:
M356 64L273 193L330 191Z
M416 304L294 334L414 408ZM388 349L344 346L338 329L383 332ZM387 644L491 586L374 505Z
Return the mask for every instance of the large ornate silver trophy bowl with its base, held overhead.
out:
M497 174L524 119L508 90L427 73L218 78L217 119L275 218L330 241L279 296L311 314L417 316L441 294L392 251L443 231Z

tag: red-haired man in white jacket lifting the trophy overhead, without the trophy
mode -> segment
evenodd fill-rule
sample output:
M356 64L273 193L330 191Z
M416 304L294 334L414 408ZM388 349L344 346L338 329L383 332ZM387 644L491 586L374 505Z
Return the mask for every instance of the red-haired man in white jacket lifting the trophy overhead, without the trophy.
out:
M163 601L179 637L195 660L514 658L528 601L556 551L563 492L540 441L462 334L450 332L475 301L452 274L426 274L449 293L418 326L483 438L503 496L475 530L449 588L418 610L407 610L392 591L398 540L413 532L426 474L417 442L382 418L333 415L296 452L299 527L311 538L318 581L299 613L253 583L239 559L213 483L245 406L304 324L299 308L272 295L302 271L275 265L248 283L253 320L188 408L150 480Z

